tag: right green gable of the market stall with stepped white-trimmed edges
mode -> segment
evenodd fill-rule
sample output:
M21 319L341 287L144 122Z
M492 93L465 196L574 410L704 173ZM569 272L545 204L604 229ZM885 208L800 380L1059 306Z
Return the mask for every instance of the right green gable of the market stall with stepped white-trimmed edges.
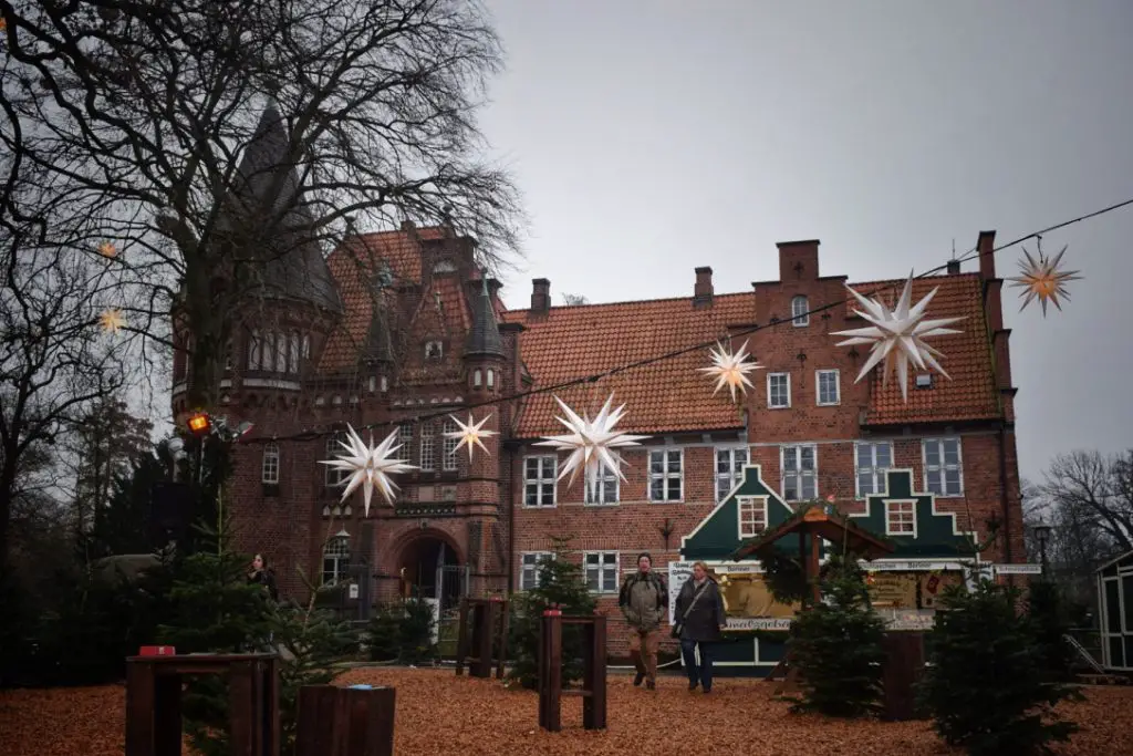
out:
M866 511L851 515L858 525L883 535L897 550L887 559L926 559L969 557L971 545L969 537L956 527L956 518L951 513L936 511L936 496L931 493L913 491L913 472L910 469L891 469L885 475L886 490L883 493L867 496ZM886 535L885 502L892 500L912 500L917 511L917 535Z

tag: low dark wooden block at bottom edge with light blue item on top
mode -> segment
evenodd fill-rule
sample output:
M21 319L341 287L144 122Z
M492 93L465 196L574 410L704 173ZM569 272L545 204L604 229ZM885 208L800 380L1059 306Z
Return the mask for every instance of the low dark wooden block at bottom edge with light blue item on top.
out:
M296 756L393 756L394 688L299 688Z

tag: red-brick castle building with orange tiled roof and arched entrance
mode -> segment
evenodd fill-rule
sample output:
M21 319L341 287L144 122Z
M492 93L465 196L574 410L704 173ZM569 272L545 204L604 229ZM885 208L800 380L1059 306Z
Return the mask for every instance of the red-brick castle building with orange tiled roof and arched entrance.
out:
M265 114L262 129L273 128L278 117L273 127ZM475 241L446 228L358 233L325 260L298 249L275 261L272 296L233 337L216 408L255 424L235 447L225 504L238 545L269 555L284 594L305 593L301 568L316 583L349 574L374 600L412 589L451 605L465 593L530 587L552 538L571 536L600 605L612 608L639 552L662 569L680 559L682 537L744 465L758 465L787 506L833 494L851 512L883 493L886 469L912 470L913 487L961 530L998 527L1004 537L985 557L1023 561L1015 389L993 245L994 232L981 232L978 271L955 263L914 281L914 301L939 288L930 317L965 320L963 333L932 340L952 380L910 376L908 404L876 371L854 383L866 352L835 346L830 332L864 323L841 304L846 278L820 274L817 240L780 244L778 279L735 294L716 292L712 269L697 267L687 297L560 307L550 281L535 279L525 309L504 306ZM901 281L852 286L892 303ZM726 390L714 396L698 371L707 348L529 393L757 324L765 328L733 339L765 368L739 404ZM191 409L182 351L173 374L180 415ZM610 475L590 498L581 477L556 483L562 458L533 444L562 432L553 396L593 416L611 392L627 405L619 427L649 440L624 453L628 482ZM484 427L497 433L471 461L442 435L450 413L466 421L469 411L477 421L491 413ZM376 494L368 517L360 493L340 503L340 478L318 464L337 453L347 423L373 426L375 440L397 427L397 456L420 468L399 476L393 507Z

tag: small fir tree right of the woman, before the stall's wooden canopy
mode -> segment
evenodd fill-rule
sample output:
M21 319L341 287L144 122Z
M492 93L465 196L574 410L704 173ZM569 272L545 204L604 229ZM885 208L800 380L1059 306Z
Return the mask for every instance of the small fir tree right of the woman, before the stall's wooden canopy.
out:
M806 609L791 627L789 647L802 678L795 711L862 716L881 697L885 622L874 611L861 568L832 557L821 581L824 602Z

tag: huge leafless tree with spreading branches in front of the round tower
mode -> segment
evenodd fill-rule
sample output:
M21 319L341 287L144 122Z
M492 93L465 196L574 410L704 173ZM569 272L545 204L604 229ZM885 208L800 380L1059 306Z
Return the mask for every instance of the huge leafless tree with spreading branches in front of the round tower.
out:
M489 267L518 252L517 193L475 120L501 67L475 0L0 0L0 14L8 148L105 229L131 328L168 343L185 318L198 406L215 405L267 260L402 220L448 219ZM257 135L265 108L282 127ZM284 170L237 170L263 138Z

